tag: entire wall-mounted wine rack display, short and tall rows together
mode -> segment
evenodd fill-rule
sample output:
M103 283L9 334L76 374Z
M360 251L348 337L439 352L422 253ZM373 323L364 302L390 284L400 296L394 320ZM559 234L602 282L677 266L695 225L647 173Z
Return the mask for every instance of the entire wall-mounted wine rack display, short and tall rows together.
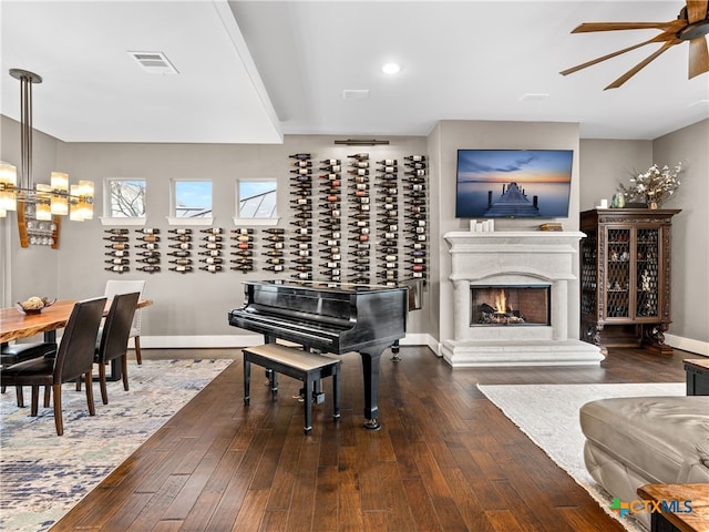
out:
M319 157L318 157L319 158ZM397 285L427 278L424 155L370 160L289 156L290 228L105 231L105 267L124 274L258 270L298 280ZM134 242L131 239L134 238ZM164 246L163 250L161 246ZM227 252L226 248L229 247Z

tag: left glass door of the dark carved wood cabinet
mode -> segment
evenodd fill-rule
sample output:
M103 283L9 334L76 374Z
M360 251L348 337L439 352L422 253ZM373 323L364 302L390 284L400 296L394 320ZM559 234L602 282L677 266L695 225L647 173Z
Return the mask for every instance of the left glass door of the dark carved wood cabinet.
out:
M608 229L606 318L630 317L630 229Z

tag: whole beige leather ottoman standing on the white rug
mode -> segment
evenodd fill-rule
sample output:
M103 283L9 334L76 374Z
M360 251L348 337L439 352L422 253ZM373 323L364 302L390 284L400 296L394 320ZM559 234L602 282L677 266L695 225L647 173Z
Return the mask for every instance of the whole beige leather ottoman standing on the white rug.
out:
M579 421L586 469L623 502L643 484L709 483L708 396L599 399ZM635 516L650 528L649 514Z

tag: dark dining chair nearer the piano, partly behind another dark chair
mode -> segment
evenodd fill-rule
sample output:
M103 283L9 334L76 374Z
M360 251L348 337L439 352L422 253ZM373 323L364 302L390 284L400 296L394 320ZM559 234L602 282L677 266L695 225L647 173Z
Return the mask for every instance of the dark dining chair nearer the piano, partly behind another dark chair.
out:
M140 296L140 291L115 295L101 330L101 337L96 345L94 362L99 365L101 400L104 405L109 403L109 393L106 391L106 365L112 360L121 359L123 389L129 391L129 337L131 335L133 315L137 308L137 300Z

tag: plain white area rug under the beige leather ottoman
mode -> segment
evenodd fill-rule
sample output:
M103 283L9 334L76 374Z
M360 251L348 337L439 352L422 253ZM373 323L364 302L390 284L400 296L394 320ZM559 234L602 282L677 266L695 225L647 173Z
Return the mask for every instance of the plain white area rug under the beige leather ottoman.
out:
M585 437L578 423L580 407L609 397L684 396L684 382L639 385L477 385L493 403L566 471L626 530L647 532L631 518L618 518L612 498L586 471Z

